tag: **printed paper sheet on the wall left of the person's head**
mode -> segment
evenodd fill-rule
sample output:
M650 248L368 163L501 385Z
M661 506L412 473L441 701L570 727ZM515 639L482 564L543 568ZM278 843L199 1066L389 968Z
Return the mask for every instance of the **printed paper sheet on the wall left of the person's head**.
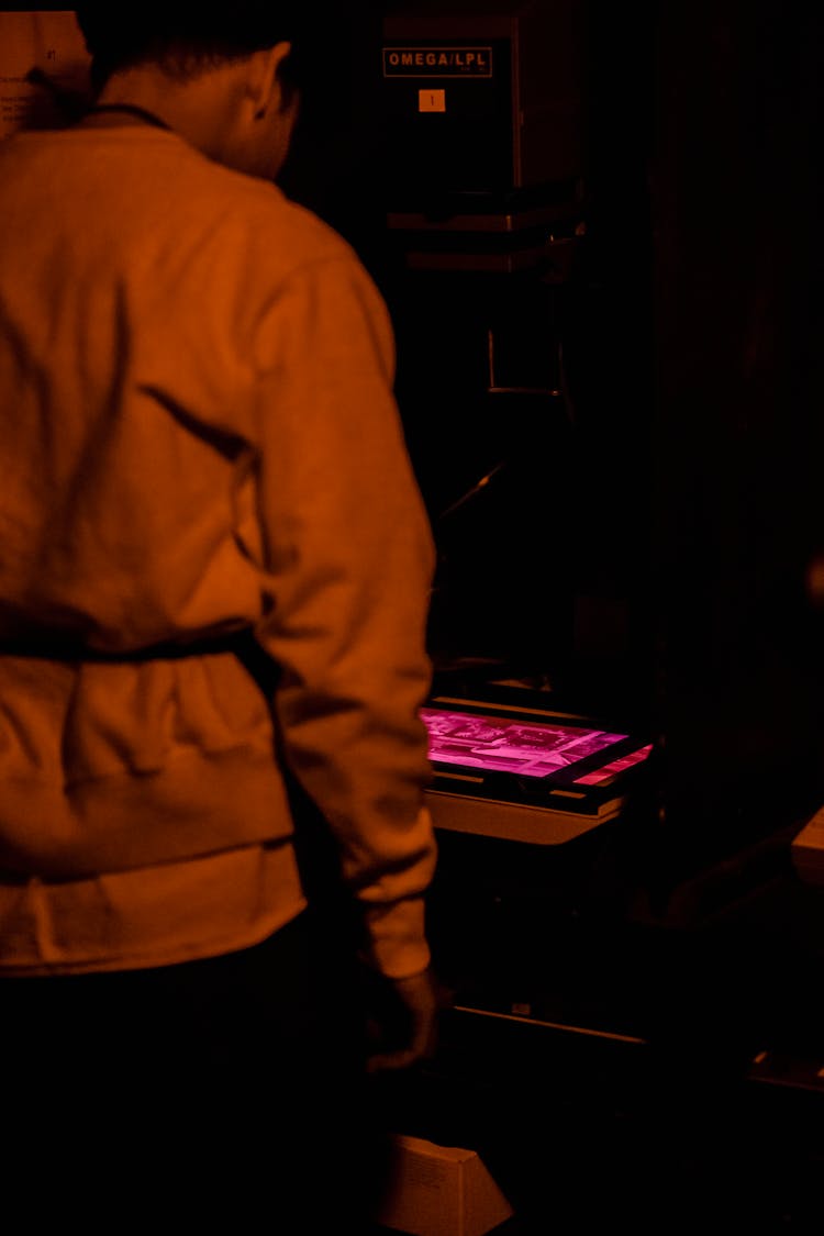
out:
M89 95L89 56L74 12L0 12L0 137L63 127Z

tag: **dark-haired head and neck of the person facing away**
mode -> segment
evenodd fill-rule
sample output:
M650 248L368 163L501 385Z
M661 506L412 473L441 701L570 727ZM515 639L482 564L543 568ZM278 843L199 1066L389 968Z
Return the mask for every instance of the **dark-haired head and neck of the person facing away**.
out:
M216 161L264 178L288 153L300 32L285 5L75 9L101 103L156 111ZM296 5L292 6L296 7Z

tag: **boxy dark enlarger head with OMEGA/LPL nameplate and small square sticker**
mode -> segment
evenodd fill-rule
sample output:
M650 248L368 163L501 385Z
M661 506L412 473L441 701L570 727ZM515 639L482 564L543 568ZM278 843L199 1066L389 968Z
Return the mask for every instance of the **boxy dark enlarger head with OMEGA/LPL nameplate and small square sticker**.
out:
M389 229L418 267L534 265L579 210L579 5L393 7L380 48Z

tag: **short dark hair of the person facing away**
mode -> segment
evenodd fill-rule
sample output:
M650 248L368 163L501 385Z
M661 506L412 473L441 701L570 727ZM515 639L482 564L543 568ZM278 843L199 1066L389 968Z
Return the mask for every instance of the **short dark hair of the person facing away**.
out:
M300 0L226 5L86 4L74 15L91 57L91 78L100 88L119 69L157 63L187 79L225 61L292 42L283 66L289 85L299 85L301 23Z

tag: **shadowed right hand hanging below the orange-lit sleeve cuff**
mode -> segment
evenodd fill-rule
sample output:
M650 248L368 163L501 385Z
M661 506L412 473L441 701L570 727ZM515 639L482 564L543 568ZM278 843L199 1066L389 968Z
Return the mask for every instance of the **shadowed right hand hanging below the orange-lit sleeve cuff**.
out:
M374 1051L367 1069L405 1069L432 1056L437 1039L441 995L431 970L408 979L378 979L383 990L372 1010Z

